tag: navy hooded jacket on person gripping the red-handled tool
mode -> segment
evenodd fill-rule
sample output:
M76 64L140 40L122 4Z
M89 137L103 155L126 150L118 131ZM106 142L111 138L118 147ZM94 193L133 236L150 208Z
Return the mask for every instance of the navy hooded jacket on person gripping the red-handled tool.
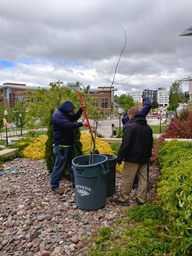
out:
M81 108L72 113L74 105L70 101L65 101L52 115L52 132L54 145L72 145L75 142L74 129L83 126L77 121L81 114Z

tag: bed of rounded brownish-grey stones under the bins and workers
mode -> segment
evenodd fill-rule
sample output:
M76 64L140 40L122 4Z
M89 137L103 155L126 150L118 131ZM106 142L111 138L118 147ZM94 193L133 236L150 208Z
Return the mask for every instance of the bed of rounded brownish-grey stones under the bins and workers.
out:
M148 198L153 199L153 184L159 172L150 169ZM49 179L44 160L17 158L1 168L0 255L85 256L97 228L113 226L123 217L125 207L111 203L110 198L102 209L79 209L71 182L61 181L65 192L59 196L50 190ZM117 174L117 193L119 185ZM134 203L132 194L129 207Z

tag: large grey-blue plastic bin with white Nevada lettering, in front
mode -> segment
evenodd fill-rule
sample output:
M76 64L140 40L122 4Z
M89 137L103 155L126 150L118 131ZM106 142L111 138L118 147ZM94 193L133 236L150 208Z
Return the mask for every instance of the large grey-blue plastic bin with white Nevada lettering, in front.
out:
M72 160L75 197L79 208L97 210L105 206L109 166L104 155L77 156Z

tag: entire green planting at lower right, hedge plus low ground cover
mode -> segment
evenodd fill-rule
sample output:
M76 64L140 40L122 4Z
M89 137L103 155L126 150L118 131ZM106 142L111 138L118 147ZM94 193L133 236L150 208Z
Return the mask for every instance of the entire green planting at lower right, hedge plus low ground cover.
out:
M157 204L123 211L110 236L99 233L93 240L88 255L192 255L192 143L163 142L158 157Z

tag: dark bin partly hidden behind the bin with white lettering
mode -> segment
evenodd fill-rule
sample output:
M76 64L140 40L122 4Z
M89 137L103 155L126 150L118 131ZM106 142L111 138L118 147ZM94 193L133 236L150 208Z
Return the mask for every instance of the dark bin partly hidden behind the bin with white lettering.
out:
M107 173L107 197L115 194L116 191L116 155L104 154L107 157L109 172Z

